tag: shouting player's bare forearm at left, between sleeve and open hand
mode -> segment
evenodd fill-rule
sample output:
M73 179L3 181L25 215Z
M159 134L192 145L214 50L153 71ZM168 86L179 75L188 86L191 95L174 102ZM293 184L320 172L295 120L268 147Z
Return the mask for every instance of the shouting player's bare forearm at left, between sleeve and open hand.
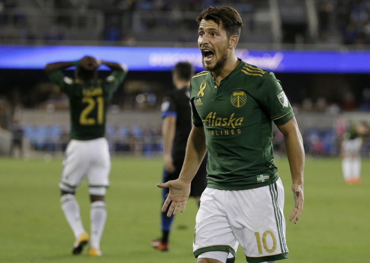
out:
M185 160L179 179L185 182L193 180L206 154L206 150L203 127L193 126L186 144Z

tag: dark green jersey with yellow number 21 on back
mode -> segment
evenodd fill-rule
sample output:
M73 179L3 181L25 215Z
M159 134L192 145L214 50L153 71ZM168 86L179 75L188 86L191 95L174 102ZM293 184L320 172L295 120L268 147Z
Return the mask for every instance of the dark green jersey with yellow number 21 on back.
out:
M55 71L49 75L50 80L58 84L68 95L71 139L92 140L104 137L105 115L110 100L125 75L123 71L113 71L107 78L91 83L68 78L62 71Z

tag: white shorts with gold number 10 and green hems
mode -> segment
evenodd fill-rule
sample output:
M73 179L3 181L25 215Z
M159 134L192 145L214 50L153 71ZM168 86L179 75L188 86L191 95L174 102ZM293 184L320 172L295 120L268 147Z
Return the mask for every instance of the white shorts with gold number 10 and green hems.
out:
M287 258L283 208L280 178L272 185L241 191L206 188L196 215L195 257L233 262L240 244L250 263Z

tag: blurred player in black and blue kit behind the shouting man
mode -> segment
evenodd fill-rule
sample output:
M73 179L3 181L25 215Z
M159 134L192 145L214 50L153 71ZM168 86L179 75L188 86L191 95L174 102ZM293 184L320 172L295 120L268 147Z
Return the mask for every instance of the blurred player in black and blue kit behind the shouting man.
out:
M189 85L194 69L188 62L179 62L172 70L172 81L176 90L166 96L162 103L162 136L164 144L164 171L163 182L176 180L179 177L182 164L185 159L186 141L192 127L191 105L189 99ZM202 192L207 186L205 157L195 174L190 189L190 196L195 197L198 204ZM169 189L162 189L163 202L168 196ZM173 216L167 217L167 212L162 212L161 229L162 238L154 240L152 247L161 250L168 250L168 236L171 231Z

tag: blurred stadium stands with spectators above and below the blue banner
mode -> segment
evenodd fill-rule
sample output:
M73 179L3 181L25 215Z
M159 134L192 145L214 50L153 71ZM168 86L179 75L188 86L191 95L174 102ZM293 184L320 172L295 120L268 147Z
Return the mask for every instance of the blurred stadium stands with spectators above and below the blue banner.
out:
M243 18L239 48L369 49L370 0L0 0L0 44L196 47L199 10L221 4L231 4ZM36 80L0 89L0 127L11 130L12 116L20 114L32 150L61 152L68 142L67 99L43 72L24 75ZM125 90L113 100L106 130L112 153L151 156L162 151L159 107L171 79L159 72L149 75L130 72ZM337 119L367 119L370 89L364 75L278 78L294 94L289 99L307 153L338 154L342 134ZM323 92L328 85L322 83L338 92ZM369 154L369 144L363 154ZM279 132L274 146L284 150Z

